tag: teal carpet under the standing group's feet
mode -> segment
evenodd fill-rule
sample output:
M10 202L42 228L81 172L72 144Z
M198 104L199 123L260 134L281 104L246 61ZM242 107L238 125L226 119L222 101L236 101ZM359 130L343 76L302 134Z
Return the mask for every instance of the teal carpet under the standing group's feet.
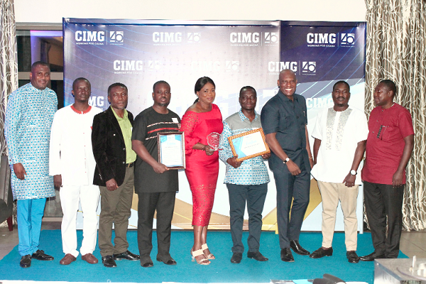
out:
M244 232L246 245L248 233ZM82 241L82 231L77 231L78 244ZM137 233L127 234L129 250L138 253ZM216 256L209 266L200 266L191 261L192 231L173 231L170 254L178 262L176 266L166 266L155 261L157 253L156 235L153 233L154 249L151 252L154 266L141 267L139 261L117 261L116 268L105 268L101 263L99 249L94 256L99 263L89 264L78 256L77 261L69 266L61 266L62 241L60 230L45 230L41 232L40 249L55 257L54 261L33 260L30 268L21 268L18 246L0 261L0 280L35 280L35 281L70 281L70 282L134 282L134 283L268 283L271 279L295 280L322 278L329 273L345 281L364 281L373 283L373 262L349 263L346 260L344 234L334 234L334 254L331 257L312 259L308 256L294 254L294 263L284 263L280 260L278 235L273 232L263 232L261 236L261 253L269 261L258 262L244 258L239 264L229 260L231 252L231 235L229 231L209 231L209 248ZM320 233L302 233L300 244L309 251L315 251L321 246ZM362 256L373 252L371 234L358 235L357 253ZM400 258L406 258L400 253Z

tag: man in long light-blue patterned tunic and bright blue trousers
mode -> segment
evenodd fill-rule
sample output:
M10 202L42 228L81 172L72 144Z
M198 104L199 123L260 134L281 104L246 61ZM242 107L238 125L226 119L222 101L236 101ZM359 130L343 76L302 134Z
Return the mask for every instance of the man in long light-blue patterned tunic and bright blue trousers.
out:
M49 141L58 97L48 88L47 63L33 63L30 81L9 96L4 125L13 199L18 200L18 251L23 268L31 266L31 258L53 260L38 245L46 197L55 196L49 175Z

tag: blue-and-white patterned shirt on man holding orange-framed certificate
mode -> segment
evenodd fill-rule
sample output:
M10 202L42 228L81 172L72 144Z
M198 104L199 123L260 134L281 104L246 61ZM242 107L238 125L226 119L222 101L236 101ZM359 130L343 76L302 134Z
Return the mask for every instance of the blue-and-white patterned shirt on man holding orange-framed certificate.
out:
M224 131L222 131L220 136L219 144L219 148L222 149L219 150L219 158L226 165L224 183L232 183L234 185L261 185L269 182L268 169L260 155L244 160L238 168L234 168L226 163L228 158L234 156L228 137L261 127L261 119L256 112L253 121L250 121L241 110L224 120Z

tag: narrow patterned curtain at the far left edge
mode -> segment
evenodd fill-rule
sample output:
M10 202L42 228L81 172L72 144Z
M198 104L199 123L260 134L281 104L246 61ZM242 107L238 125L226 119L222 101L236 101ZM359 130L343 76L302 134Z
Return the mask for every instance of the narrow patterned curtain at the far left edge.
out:
M4 115L9 94L18 89L18 58L13 0L0 1L0 154L7 155Z

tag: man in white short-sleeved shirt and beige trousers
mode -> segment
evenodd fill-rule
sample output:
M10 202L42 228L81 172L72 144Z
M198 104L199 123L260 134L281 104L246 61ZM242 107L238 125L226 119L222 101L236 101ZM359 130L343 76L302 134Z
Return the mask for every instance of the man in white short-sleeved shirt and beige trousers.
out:
M312 137L314 163L312 175L317 179L322 197L322 247L310 258L332 256L337 205L342 206L346 257L358 263L356 255L356 197L361 178L359 163L364 156L368 126L365 114L349 108L349 84L339 81L333 86L334 107L323 109L317 116Z

